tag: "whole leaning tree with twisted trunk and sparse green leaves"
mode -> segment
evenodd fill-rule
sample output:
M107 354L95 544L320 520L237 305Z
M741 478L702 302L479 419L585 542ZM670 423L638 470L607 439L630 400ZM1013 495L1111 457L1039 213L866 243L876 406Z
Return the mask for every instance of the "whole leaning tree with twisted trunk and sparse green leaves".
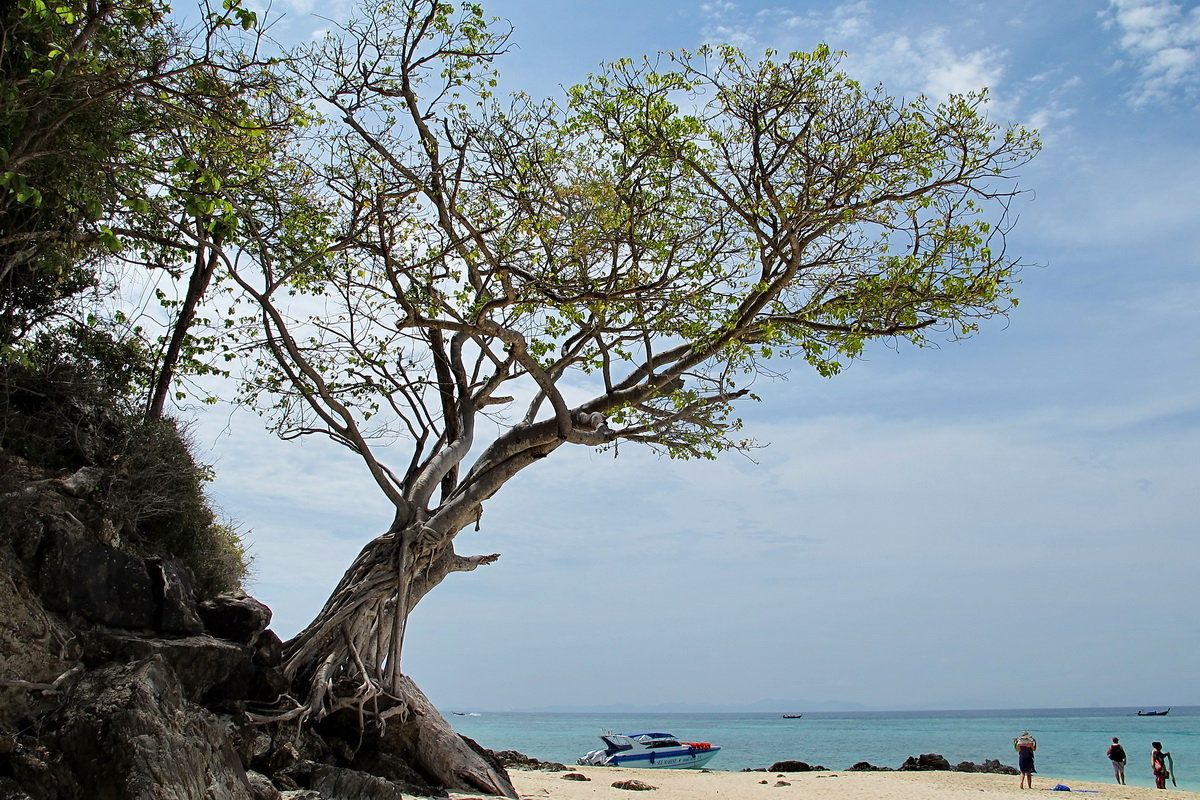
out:
M353 450L395 507L286 643L281 716L354 708L446 786L512 794L402 672L426 593L498 558L456 535L564 445L714 457L746 446L756 375L1003 314L1038 143L982 94L896 100L824 47L623 60L562 104L499 103L506 31L478 6L366 12L292 61L324 118L286 160L304 201L244 215L226 253L251 399Z

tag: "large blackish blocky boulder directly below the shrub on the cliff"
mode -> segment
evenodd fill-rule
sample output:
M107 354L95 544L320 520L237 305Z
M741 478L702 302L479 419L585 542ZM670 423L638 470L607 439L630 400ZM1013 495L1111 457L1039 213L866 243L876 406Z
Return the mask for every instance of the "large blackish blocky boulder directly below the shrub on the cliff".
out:
M199 633L191 578L161 559L46 531L37 566L37 594L49 610L109 627Z

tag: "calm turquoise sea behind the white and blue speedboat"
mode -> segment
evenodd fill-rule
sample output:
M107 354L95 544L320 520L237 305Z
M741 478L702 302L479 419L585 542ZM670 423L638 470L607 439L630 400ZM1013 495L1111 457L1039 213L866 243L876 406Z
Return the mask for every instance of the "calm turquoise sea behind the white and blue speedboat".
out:
M713 770L766 769L802 760L830 770L858 762L896 768L910 756L938 753L950 764L996 758L1016 765L1013 738L1028 730L1038 740L1037 778L1112 781L1105 752L1121 739L1129 763L1126 782L1154 786L1152 741L1175 760L1177 788L1200 792L1200 706L1171 708L1166 716L1138 716L1135 708L1022 709L998 711L812 711L779 714L535 714L451 711L455 729L490 750L574 764L600 747L604 730L671 733L684 741L720 745ZM1147 709L1150 710L1150 709ZM1160 709L1154 709L1160 710ZM803 714L798 720L784 714ZM1013 778L1016 780L1015 777ZM1034 784L1037 786L1037 784ZM1170 788L1170 782L1168 787Z

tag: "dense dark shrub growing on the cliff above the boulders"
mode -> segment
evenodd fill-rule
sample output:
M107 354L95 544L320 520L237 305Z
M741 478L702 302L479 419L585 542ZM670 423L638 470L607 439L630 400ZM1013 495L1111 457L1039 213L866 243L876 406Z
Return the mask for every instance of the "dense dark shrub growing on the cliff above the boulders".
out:
M0 361L0 450L44 469L100 468L96 517L142 553L192 570L202 596L240 585L248 558L204 493L209 468L169 419L146 421L130 399L145 374L136 345L96 331L46 335Z

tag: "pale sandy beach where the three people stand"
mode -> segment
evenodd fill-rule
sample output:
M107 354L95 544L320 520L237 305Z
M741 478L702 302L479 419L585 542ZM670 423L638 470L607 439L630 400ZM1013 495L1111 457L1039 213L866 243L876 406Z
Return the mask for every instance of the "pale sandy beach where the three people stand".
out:
M638 770L611 766L577 766L572 772L588 781L564 780L565 772L509 770L517 793L524 800L986 800L1028 796L1018 787L1015 775L971 772L721 772L700 770ZM614 781L637 780L655 787L632 792L612 786ZM1105 800L1200 800L1198 792L1158 789L1115 783L1060 780L1037 776L1033 792L1042 793L1062 783L1085 796ZM1055 793L1066 794L1063 793ZM470 795L456 795L467 798ZM1037 796L1037 795L1036 795ZM1045 796L1045 795L1042 795ZM1050 795L1054 796L1054 795Z

